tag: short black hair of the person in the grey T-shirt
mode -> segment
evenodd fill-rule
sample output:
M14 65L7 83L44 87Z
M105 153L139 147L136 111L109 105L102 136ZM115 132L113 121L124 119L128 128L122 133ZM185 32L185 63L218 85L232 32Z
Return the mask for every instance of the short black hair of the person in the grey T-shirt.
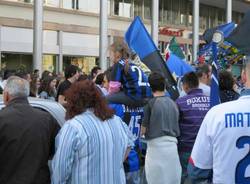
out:
M160 72L152 72L149 75L148 81L153 92L164 91L166 88L166 80Z

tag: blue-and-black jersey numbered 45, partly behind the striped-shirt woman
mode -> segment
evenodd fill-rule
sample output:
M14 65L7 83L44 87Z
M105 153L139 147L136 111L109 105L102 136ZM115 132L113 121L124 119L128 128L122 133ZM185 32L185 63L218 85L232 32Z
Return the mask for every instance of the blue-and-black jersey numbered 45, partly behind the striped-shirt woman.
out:
M125 172L134 172L140 169L139 154L141 153L140 130L143 118L143 107L129 108L121 104L111 104L117 116L129 126L135 140L135 147L130 151L128 158L124 162Z

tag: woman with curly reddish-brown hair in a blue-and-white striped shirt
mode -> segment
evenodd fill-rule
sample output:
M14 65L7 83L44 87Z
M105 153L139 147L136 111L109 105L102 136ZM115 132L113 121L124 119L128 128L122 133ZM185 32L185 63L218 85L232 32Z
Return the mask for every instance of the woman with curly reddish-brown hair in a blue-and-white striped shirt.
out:
M65 97L67 122L56 138L52 183L124 183L123 160L133 145L127 125L90 80L72 84Z

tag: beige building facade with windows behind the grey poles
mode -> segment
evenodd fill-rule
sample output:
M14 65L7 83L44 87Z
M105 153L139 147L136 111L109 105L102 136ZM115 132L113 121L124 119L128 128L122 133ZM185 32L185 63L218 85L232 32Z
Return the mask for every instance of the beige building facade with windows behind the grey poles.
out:
M108 42L122 39L135 16L151 30L152 0L109 0ZM233 21L239 23L250 8L233 1ZM85 73L99 64L100 0L44 0L43 70L58 71L76 64ZM225 0L200 1L200 33L225 23ZM1 69L32 70L33 0L0 1ZM101 21L101 20L100 20ZM159 49L176 36L190 59L192 48L192 1L159 0ZM108 51L107 51L108 53ZM107 61L107 65L109 65Z

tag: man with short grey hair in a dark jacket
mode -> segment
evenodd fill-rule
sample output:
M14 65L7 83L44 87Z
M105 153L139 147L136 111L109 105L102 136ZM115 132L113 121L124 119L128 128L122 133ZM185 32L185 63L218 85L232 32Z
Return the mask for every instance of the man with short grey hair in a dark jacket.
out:
M0 111L0 183L49 184L48 160L59 130L47 112L29 105L29 83L10 77Z

